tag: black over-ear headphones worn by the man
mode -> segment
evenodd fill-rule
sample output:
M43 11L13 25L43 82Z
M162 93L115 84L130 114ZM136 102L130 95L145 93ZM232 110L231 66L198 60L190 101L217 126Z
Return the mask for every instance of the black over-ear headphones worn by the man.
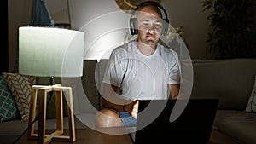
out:
M156 6L158 7L159 9L162 9L162 11L164 12L165 14L165 20L166 22L163 23L163 29L162 29L162 34L163 35L166 35L167 34L167 31L168 31L168 25L169 25L169 20L168 20L168 14L166 12L166 9L164 9L164 7L160 4L160 3L157 3L157 2L154 2L154 1L145 1L143 3L139 3L137 5L137 7L132 11L132 15L135 14L135 12L138 10L138 9L141 9L143 8L144 6L147 6L147 5L153 5L153 6ZM130 18L130 32L131 32L131 35L135 35L137 34L137 18Z

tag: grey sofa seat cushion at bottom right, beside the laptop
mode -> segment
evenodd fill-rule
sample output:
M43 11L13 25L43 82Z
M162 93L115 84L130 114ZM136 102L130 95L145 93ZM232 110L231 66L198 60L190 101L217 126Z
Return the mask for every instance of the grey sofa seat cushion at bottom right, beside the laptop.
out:
M225 135L242 144L256 141L256 114L244 111L218 110L214 125Z

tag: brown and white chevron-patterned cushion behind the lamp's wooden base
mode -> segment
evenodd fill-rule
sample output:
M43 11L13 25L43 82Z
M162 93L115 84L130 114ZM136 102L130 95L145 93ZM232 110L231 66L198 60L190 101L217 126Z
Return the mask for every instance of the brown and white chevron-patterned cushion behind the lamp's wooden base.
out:
M32 95L32 84L36 84L36 78L6 72L3 72L3 77L6 78L9 89L15 96L15 102L19 109L21 120L27 121Z

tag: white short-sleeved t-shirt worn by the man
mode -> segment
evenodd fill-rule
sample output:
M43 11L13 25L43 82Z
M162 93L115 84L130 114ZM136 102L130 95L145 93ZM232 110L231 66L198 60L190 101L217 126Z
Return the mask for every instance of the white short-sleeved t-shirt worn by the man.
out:
M126 100L167 99L168 84L181 83L177 53L157 44L152 55L143 55L137 42L131 41L113 49L103 83L122 89Z

